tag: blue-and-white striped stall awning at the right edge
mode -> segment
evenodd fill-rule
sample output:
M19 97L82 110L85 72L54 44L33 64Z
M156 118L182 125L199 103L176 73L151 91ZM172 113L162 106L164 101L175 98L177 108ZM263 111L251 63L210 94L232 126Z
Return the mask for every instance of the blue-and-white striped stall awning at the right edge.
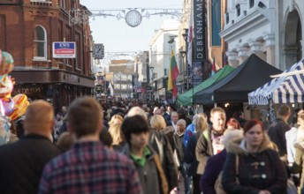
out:
M293 66L284 71L304 70L304 59L293 64ZM267 105L269 101L274 103L294 103L304 101L304 74L297 73L291 76L282 76L273 78L270 82L257 88L254 92L248 93L248 103L252 105Z

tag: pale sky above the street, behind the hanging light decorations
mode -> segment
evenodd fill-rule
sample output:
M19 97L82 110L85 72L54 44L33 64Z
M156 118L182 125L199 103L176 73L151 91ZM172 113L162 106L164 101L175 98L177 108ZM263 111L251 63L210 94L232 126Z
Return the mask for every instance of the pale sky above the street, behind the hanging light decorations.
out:
M181 9L183 0L80 0L80 4L92 12L146 8L149 13L154 13L155 9ZM117 15L118 12L107 11L113 15ZM90 18L90 27L95 43L103 43L105 53L140 52L148 50L148 42L155 34L155 30L162 26L164 19L171 19L171 16L156 15L150 16L149 19L142 18L140 26L131 27L125 23L125 19L96 16Z

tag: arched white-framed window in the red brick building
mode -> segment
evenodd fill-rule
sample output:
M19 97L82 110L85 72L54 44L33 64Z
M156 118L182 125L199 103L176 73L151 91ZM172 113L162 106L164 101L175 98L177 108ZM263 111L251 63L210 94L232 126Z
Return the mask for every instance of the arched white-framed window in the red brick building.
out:
M43 26L34 27L34 59L47 59L47 33Z

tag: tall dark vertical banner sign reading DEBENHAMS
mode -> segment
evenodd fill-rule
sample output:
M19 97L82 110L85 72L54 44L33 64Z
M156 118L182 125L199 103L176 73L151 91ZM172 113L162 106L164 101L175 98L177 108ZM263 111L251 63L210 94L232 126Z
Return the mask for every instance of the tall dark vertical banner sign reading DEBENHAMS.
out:
M205 1L194 0L194 60L205 59Z

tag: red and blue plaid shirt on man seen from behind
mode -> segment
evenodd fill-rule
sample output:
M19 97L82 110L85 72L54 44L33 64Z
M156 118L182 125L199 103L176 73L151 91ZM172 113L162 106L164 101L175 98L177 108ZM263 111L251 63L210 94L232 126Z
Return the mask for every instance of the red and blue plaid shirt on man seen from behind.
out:
M44 168L39 193L142 193L133 161L101 142L80 142Z

